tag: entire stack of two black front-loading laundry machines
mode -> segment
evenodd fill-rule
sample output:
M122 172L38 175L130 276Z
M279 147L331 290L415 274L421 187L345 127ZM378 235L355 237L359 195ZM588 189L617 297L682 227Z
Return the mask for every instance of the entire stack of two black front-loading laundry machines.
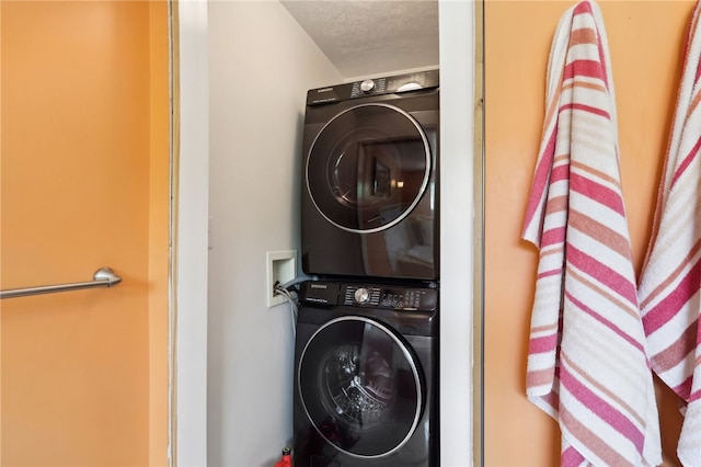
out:
M297 467L438 466L438 70L313 89Z

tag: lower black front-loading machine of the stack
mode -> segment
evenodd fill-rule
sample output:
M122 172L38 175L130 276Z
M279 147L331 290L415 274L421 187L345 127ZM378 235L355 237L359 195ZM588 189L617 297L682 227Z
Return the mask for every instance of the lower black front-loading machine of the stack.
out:
M438 291L301 284L296 467L434 467Z

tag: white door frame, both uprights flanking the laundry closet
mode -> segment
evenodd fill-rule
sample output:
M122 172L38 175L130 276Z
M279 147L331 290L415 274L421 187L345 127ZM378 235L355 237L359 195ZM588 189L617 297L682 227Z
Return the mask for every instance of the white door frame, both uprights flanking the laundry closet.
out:
M207 255L209 210L209 64L206 0L170 0L175 113L171 463L207 465ZM440 353L441 464L481 465L480 191L475 158L475 18L473 0L439 1L441 69ZM476 159L476 160L475 160ZM476 183L475 183L476 181ZM475 191L478 195L475 196ZM475 203L478 203L475 205ZM479 321L479 320L478 320ZM474 348L473 348L474 345ZM476 352L475 352L476 349ZM473 374L473 371L475 372ZM473 380L478 375L478 380ZM176 388L176 389L175 389ZM473 406L474 403L474 406ZM473 428L474 420L474 428ZM478 433L473 440L473 430ZM474 442L474 444L473 444Z

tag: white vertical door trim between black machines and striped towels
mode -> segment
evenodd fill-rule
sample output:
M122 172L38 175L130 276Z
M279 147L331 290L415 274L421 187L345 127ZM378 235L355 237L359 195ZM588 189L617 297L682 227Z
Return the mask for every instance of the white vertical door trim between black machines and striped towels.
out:
M440 464L472 465L474 10L440 0ZM479 176L479 174L478 174Z

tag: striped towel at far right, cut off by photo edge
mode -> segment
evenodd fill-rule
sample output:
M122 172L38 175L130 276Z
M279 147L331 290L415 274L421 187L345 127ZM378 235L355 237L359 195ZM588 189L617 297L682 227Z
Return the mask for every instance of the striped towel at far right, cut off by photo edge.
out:
M686 402L677 454L701 465L701 7L687 34L681 84L639 299L655 373Z

